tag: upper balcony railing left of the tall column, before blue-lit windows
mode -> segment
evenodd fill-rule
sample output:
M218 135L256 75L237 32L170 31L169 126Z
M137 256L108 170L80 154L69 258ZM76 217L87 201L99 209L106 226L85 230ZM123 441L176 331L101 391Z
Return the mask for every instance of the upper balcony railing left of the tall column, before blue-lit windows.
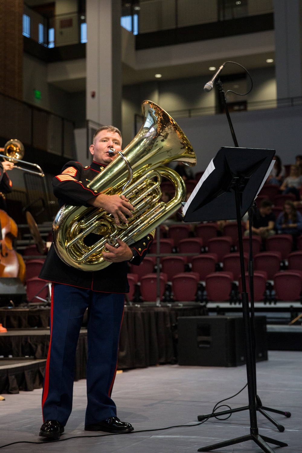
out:
M24 4L22 33L48 48L86 43L86 17L75 11L48 18Z

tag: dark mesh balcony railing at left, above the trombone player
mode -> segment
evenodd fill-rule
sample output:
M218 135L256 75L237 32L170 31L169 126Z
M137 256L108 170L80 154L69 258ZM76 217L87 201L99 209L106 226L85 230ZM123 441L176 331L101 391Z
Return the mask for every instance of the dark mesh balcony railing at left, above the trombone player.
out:
M0 93L0 137L17 137L24 145L74 157L74 123L62 116Z

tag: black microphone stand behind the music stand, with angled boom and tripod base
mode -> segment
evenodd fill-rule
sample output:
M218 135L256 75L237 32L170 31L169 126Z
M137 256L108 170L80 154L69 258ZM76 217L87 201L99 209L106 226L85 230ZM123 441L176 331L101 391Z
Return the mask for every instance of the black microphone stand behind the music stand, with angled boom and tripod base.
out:
M234 142L234 145L236 148L239 148L237 138L235 135L235 130L233 127L232 120L230 118L230 112L225 100L225 92L223 90L223 84L220 80L220 77L218 77L215 81L216 87L219 92L219 96L222 101L222 105L225 108L225 114L227 117L227 120L229 122L230 126L230 132L232 135L232 139ZM282 433L284 431L284 426L279 424L275 419L273 419L270 415L268 415L264 410L268 410L269 412L274 412L275 414L281 414L285 415L285 417L290 417L291 413L286 411L283 412L282 410L278 409L272 409L270 407L266 407L262 405L262 402L257 395L257 381L256 381L256 340L255 340L255 311L254 311L254 259L253 259L253 241L252 241L252 221L253 221L253 213L254 213L254 203L253 205L249 208L249 294L250 294L250 329L251 329L251 339L252 339L252 360L253 360L253 375L254 375L254 390L255 390L255 396L256 396L256 410L260 412L260 414L264 415L271 423L273 423L278 430ZM240 239L239 239L240 240ZM243 285L242 281L242 285ZM243 285L244 286L244 285ZM243 410L249 410L249 406L243 406L239 407L236 409L230 409L230 410L223 410L220 412L215 412L215 414L207 414L207 415L198 415L197 419L198 421L202 421L204 419L208 419L211 417L217 417L219 415L227 415L227 414L232 414L234 412L241 412ZM199 450L202 451L202 450Z

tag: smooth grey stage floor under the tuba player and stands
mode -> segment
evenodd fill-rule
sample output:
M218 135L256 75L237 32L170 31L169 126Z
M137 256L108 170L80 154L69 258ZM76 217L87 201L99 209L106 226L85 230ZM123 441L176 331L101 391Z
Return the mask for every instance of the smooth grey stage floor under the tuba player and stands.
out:
M291 418L275 415L285 427L280 433L258 414L259 432L288 443L278 453L301 453L302 441L302 352L271 351L269 360L257 364L259 396L264 405L288 410ZM153 366L126 371L116 376L113 399L120 419L136 430L193 424L198 414L211 413L217 401L234 395L246 383L244 366L214 368L177 365ZM4 395L0 401L0 446L27 440L40 441L42 390ZM226 403L228 403L226 401ZM246 389L230 400L232 408L247 404ZM86 408L86 381L74 383L73 411L61 439L95 435L83 431ZM271 413L270 413L271 414ZM100 433L102 434L102 433ZM224 439L249 434L248 412L235 413L226 421L211 419L201 426L174 428L152 433L132 433L40 445L17 444L1 451L37 453L185 453ZM222 448L221 453L255 453L262 450L246 442Z

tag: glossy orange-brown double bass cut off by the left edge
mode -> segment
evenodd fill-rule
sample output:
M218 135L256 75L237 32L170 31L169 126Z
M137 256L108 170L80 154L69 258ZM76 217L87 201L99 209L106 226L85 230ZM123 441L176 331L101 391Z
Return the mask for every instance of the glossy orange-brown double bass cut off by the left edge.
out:
M0 277L19 277L25 283L26 267L22 256L14 250L13 241L18 237L18 226L5 211L0 209Z

